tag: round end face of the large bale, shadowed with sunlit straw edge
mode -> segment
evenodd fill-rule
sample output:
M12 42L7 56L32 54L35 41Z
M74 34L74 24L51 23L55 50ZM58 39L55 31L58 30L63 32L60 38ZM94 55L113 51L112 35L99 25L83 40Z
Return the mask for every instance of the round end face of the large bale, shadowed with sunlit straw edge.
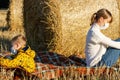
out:
M24 0L25 32L28 43L34 50L57 51L60 48L59 11L57 0Z

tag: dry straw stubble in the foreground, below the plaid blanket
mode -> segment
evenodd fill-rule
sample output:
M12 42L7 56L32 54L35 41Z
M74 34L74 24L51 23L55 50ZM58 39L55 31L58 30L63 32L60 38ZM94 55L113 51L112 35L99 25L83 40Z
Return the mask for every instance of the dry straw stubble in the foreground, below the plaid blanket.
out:
M15 69L6 70L1 68L0 79L1 80L15 80L14 78ZM58 78L49 79L46 75L43 78L38 78L35 76L26 76L22 74L22 79L16 78L16 80L119 80L120 71L114 71L113 73L99 73L80 75L79 72L75 71L74 67L66 70L65 73Z

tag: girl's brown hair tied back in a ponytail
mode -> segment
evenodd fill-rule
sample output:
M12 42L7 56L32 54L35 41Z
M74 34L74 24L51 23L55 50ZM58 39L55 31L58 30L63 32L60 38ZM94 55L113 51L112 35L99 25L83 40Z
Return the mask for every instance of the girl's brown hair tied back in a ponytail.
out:
M113 21L113 17L110 11L108 11L107 9L100 9L92 15L90 25L97 22L100 19L100 17L103 17L104 19L111 17L110 23Z

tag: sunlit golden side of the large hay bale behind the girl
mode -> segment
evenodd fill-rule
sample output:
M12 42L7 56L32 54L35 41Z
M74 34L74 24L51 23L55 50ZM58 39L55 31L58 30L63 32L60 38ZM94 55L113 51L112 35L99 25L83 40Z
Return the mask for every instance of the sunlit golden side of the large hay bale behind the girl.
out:
M91 15L100 8L107 8L113 14L114 21L104 31L112 39L119 37L119 9L116 0L59 0L62 17L64 54L84 53L85 39L90 28ZM118 1L119 2L119 1Z

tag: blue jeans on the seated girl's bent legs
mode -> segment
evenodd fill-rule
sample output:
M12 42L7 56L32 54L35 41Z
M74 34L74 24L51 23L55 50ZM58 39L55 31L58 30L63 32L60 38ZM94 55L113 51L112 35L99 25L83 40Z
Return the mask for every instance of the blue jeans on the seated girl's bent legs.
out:
M120 38L115 41L120 42ZM117 62L119 57L120 57L120 49L108 47L106 53L102 56L101 61L97 65L95 65L95 67L103 66L103 65L107 67L111 67Z

